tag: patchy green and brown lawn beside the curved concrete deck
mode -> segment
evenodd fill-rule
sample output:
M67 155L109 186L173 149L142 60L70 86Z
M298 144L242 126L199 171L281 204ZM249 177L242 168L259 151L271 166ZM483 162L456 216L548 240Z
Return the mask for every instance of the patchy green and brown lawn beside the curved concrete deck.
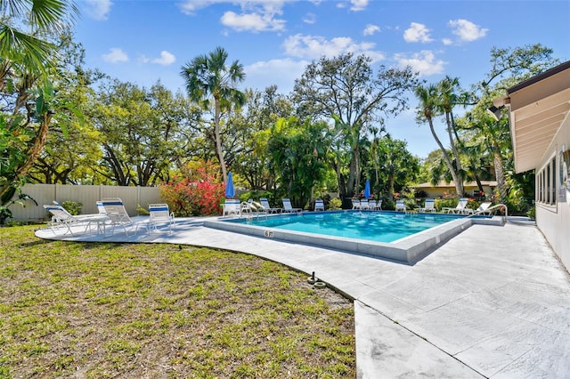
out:
M355 377L352 302L247 254L0 229L0 378Z

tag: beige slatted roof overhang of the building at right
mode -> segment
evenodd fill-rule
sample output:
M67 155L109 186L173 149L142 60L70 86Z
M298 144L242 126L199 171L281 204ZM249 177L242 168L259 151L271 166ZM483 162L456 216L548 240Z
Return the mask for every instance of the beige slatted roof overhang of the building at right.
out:
M540 164L570 111L570 61L507 90L493 101L508 105L515 171L523 173Z

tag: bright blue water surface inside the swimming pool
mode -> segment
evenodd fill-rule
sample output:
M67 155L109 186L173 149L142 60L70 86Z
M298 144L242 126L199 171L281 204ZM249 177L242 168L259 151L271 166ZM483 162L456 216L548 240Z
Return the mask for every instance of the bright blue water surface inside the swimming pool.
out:
M457 220L452 214L395 214L394 212L333 212L278 215L225 222L326 236L394 242L423 230Z

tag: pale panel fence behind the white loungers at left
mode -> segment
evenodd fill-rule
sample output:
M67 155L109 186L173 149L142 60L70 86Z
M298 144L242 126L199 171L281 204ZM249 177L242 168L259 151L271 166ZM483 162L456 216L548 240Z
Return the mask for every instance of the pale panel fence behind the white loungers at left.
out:
M44 205L75 201L83 204L82 214L96 214L96 201L102 198L120 198L125 204L126 212L134 216L137 205L148 209L149 204L162 203L158 187L119 187L119 186L74 186L64 184L26 184L22 193L37 201L25 201L25 206L10 206L13 217L8 221L36 222L48 219ZM15 196L14 198L17 198Z

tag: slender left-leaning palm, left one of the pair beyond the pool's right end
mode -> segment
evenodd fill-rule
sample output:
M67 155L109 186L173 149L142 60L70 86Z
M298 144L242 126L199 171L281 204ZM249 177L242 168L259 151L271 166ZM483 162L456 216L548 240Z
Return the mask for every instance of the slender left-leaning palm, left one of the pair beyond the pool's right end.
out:
M440 115L441 109L441 102L439 99L439 89L436 85L428 85L423 86L419 85L415 89L416 97L419 100L418 106L418 121L428 121L429 130L431 134L434 136L434 139L437 142L437 146L442 151L442 155L444 157L445 164L449 169L450 173L452 174L453 182L455 183L455 190L457 192L457 196L463 196L463 182L461 181L460 176L458 175L455 167L453 166L452 158L447 153L447 150L444 148L444 144L440 141L439 137L437 136L436 129L434 128L434 117Z

